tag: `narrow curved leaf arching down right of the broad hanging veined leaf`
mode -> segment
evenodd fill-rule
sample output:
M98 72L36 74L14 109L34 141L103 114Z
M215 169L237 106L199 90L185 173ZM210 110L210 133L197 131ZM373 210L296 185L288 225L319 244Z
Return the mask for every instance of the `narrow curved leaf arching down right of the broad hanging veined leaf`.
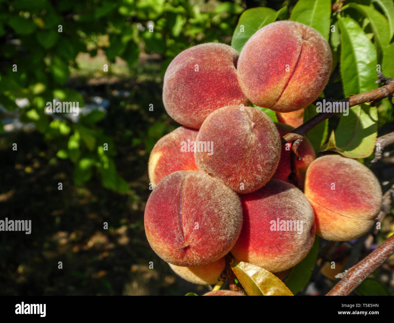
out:
M379 58L381 58L383 55L383 49L386 48L390 42L388 37L389 25L387 19L373 6L363 6L355 3L349 3L348 6L361 12L370 21L375 35L377 54Z

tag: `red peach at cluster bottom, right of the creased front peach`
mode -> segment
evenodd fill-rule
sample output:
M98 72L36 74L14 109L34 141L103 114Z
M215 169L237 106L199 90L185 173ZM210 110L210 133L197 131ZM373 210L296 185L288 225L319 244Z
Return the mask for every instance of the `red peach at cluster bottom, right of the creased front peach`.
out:
M237 262L246 261L277 273L305 258L315 239L315 225L312 206L301 190L271 179L260 190L240 197L243 226L231 250ZM290 227L290 221L297 220L298 230L297 226ZM289 221L288 226L281 221Z

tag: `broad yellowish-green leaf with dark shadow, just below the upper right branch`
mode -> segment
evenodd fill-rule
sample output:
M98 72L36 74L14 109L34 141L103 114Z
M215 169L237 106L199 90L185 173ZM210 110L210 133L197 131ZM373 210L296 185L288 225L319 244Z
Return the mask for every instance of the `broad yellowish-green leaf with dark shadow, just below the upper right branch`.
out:
M377 138L377 109L366 104L349 108L348 116L341 116L335 132L332 131L324 151L334 150L349 158L370 156Z

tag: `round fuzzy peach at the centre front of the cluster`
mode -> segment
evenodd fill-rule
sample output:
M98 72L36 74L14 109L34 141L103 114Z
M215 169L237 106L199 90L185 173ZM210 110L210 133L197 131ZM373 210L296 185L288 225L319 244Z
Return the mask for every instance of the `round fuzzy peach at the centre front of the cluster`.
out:
M211 154L201 151L204 149L195 151L199 169L237 193L253 192L267 183L281 155L275 124L251 106L227 106L212 112L201 126L197 142L213 145Z

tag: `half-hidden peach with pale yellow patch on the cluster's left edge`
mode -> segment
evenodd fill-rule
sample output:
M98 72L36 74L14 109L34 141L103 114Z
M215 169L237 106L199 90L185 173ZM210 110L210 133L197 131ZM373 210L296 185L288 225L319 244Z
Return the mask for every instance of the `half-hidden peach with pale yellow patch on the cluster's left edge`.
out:
M148 162L149 180L153 187L177 170L199 170L194 161L194 150L187 149L188 140L195 142L197 133L196 129L179 127L156 142ZM186 149L182 150L183 147Z

